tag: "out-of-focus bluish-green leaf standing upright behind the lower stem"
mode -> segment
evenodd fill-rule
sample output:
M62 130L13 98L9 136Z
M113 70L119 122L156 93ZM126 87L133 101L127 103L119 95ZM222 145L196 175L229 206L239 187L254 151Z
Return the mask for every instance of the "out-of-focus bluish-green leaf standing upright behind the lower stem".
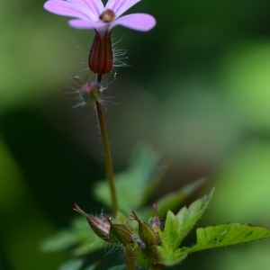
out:
M138 209L148 199L156 188L162 172L157 172L159 157L151 148L137 147L134 149L130 166L120 174L115 175L115 185L121 211L130 214L132 209ZM94 194L101 202L112 206L111 195L107 181L98 182Z

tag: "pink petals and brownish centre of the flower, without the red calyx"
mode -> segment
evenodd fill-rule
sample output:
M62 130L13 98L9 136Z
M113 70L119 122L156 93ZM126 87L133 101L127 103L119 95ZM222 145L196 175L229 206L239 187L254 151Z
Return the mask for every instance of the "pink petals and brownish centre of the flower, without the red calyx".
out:
M99 32L111 31L121 25L137 31L149 31L156 20L149 14L123 15L140 0L108 0L104 6L102 0L49 0L44 8L52 14L74 17L68 22L77 29L94 29Z

